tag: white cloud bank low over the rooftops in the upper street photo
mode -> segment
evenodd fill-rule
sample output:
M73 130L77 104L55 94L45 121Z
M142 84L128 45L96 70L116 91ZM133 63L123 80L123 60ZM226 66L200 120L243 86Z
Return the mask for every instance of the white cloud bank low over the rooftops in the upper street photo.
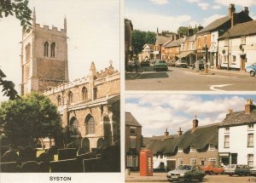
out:
M179 26L189 26L191 16L187 14L177 16L167 16L162 14L144 13L142 11L130 12L129 17L134 29L142 31L177 31Z

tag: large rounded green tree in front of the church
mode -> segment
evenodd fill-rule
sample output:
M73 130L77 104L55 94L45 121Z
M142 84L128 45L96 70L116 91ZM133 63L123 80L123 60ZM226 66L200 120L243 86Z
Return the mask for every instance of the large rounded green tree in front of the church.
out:
M0 129L11 144L27 146L38 138L61 134L61 117L48 97L32 93L1 104Z

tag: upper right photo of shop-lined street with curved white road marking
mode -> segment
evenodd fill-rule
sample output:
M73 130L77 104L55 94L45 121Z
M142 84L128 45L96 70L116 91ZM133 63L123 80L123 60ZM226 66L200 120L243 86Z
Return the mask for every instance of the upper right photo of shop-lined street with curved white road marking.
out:
M256 90L254 1L126 0L125 90Z

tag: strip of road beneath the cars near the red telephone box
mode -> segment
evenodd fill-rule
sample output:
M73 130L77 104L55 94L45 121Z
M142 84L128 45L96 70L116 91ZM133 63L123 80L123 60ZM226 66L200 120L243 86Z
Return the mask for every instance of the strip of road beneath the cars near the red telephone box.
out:
M167 183L166 173L154 173L153 176L140 177L138 173L131 173L131 175L125 175L125 182L161 182ZM183 182L183 181L176 181ZM198 180L192 180L191 182L199 182ZM256 182L256 177L253 176L229 176L227 174L218 175L206 175L201 182L211 183L253 183Z

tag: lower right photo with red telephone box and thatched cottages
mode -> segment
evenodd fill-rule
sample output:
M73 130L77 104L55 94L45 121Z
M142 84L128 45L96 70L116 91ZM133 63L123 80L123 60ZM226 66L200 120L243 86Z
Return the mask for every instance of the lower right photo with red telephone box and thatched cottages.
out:
M253 182L255 100L126 94L125 182Z

